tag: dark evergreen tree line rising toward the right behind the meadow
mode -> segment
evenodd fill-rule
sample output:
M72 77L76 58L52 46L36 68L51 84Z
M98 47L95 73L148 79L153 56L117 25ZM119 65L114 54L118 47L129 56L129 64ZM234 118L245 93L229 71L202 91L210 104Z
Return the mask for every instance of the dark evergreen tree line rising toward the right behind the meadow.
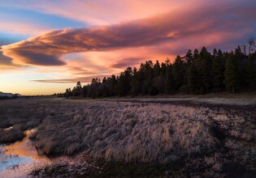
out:
M81 86L78 82L72 90L67 88L60 96L83 96L90 98L136 95L172 95L178 92L206 94L210 92L256 91L256 52L254 40L249 40L248 53L245 46L234 51L212 53L205 47L200 51L189 50L183 57L145 61L140 67L128 67L119 75L93 78Z

